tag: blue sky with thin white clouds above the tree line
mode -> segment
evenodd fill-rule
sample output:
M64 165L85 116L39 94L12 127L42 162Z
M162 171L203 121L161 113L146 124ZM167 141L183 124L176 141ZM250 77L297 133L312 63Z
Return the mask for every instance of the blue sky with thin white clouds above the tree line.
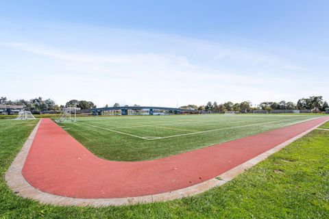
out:
M0 1L1 96L329 100L329 1Z

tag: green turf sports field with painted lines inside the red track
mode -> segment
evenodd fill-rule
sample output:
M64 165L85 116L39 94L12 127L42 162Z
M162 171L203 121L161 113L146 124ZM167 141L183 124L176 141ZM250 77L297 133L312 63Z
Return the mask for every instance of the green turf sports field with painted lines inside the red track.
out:
M316 115L318 116L318 115ZM60 123L98 157L140 161L300 123L315 115L95 116Z

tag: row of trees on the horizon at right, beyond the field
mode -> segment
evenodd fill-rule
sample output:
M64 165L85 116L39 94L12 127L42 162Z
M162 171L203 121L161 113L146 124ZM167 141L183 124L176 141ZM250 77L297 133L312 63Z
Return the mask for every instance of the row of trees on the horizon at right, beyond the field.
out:
M180 108L182 109L194 109L199 111L223 113L227 111L234 112L251 112L252 110L311 110L313 112L324 112L328 108L328 103L323 100L322 96L310 96L309 98L302 98L297 101L297 104L293 102L263 102L257 107L252 107L250 101L243 101L241 103L232 103L228 101L226 103L218 104L216 101L214 103L208 102L206 105L184 105Z

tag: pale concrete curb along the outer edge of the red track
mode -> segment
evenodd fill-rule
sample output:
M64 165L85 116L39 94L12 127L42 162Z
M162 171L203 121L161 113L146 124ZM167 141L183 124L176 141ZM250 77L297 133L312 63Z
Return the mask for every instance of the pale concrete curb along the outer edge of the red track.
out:
M283 142L282 144L279 144L278 146L275 146L269 151L266 151L265 153L262 153L252 159L249 159L247 162L240 164L239 166L236 166L228 170L227 172L224 172L223 174L219 175L215 179L210 179L208 181L204 181L197 185L193 185L188 188L183 188L180 190L175 190L172 192L164 192L161 194L127 197L127 198L71 198L65 196L57 196L54 194L49 194L47 192L41 192L40 190L38 190L38 188L34 188L32 185L30 185L23 177L22 169L25 163L25 159L27 158L27 154L29 153L29 149L32 146L34 137L36 136L36 132L38 131L40 122L41 120L36 125L32 133L30 134L29 138L27 138L27 141L23 145L21 151L16 156L14 162L12 162L12 165L10 166L10 168L5 174L5 181L7 182L9 188L19 196L22 196L24 198L30 198L44 204L60 205L60 206L75 205L75 206L103 207L110 205L119 206L119 205L134 205L136 203L170 201L176 198L183 198L186 196L199 194L205 192L206 190L210 190L211 188L221 186L226 182L234 179L234 177L239 175L244 170L252 168L252 166L263 161L264 159L269 157L269 155L272 155L273 153L280 151L291 142L294 142L298 138L305 136L310 131L317 129L317 127L328 122L328 120L326 120L323 123L320 123L319 125L316 125L311 129L308 129L307 131L304 131L303 133L300 133L299 135L291 138L290 140L287 140L286 142Z

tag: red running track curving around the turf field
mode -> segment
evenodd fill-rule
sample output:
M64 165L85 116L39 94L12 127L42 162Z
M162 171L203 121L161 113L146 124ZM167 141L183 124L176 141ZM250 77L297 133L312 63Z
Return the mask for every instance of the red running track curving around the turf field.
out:
M75 198L159 194L212 179L328 120L317 118L255 136L144 162L112 162L90 153L44 118L22 173L42 192Z

